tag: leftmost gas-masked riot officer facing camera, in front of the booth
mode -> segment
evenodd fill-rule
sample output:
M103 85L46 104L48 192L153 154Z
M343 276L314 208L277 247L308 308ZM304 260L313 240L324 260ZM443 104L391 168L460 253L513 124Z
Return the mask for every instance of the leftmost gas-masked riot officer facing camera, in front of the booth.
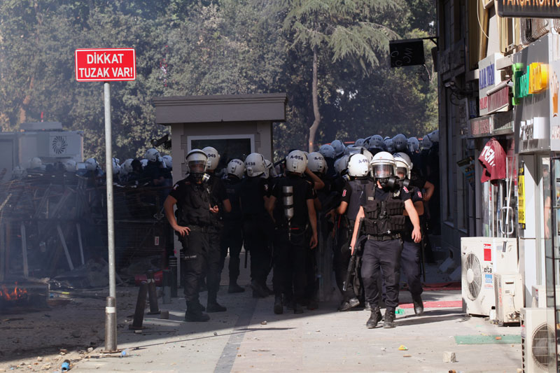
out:
M165 199L165 216L183 245L183 286L187 303L185 321L209 321L210 317L202 313L204 307L199 302L198 293L204 269L208 269L208 288L219 286L220 256L219 252L218 255L214 255L209 244L211 214L218 213L218 206L211 205L209 191L205 185L209 178L205 173L208 164L206 153L200 149L190 150L186 162L189 174L174 185ZM173 212L174 205L177 206L176 216ZM217 302L213 302L216 300L209 299L209 309L219 306Z

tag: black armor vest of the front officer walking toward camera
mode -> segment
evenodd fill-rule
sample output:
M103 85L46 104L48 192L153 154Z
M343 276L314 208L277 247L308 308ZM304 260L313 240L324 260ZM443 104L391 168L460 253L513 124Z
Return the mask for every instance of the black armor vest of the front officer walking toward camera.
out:
M398 194L389 193L384 200L374 199L374 193L367 195L367 202L363 208L365 234L383 236L398 234L405 229L405 202L401 201Z

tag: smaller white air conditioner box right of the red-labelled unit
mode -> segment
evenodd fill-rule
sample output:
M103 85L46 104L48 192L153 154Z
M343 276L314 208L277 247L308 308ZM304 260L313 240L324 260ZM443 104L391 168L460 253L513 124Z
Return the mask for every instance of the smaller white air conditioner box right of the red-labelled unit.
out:
M523 276L515 272L495 273L494 290L498 323L519 323L519 314L524 305Z

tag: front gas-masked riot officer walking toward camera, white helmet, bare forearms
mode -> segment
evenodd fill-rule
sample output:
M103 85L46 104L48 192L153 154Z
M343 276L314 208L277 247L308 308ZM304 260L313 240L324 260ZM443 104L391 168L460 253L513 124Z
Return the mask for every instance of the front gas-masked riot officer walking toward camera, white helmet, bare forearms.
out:
M391 153L377 153L371 162L372 177L377 184L374 191L367 192L365 205L356 215L351 249L356 250L360 220L363 219L365 241L362 255L361 274L365 289L365 301L372 310L367 328L375 328L381 321L377 279L382 275L386 286L386 311L384 328L395 328L395 309L398 306L400 280L400 255L402 234L405 228L406 210L413 225L411 238L421 240L418 213L410 199L409 190L395 177L396 164Z

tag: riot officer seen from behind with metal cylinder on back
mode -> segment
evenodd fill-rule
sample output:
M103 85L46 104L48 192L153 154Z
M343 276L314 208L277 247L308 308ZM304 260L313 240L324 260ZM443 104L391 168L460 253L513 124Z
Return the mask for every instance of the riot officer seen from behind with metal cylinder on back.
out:
M286 176L274 185L267 211L274 230L274 313L283 313L283 294L293 293L295 314L303 312L306 286L306 259L309 248L317 246L317 220L313 185L302 174L307 170L307 157L293 150L286 157ZM307 241L307 226L311 240Z

